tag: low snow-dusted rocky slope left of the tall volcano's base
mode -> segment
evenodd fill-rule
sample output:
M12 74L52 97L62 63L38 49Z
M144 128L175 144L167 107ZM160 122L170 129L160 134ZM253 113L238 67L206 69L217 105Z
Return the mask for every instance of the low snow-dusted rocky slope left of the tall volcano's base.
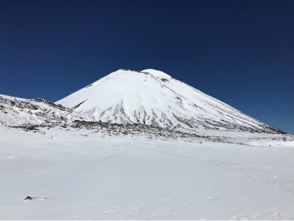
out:
M92 121L92 117L41 98L23 99L0 95L0 124L62 123Z

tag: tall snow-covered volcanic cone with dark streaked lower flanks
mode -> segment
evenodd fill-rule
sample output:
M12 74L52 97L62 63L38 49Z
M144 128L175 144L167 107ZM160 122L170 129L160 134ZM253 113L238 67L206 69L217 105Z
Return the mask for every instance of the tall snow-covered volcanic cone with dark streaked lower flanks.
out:
M160 71L122 69L56 102L97 121L180 131L283 133Z

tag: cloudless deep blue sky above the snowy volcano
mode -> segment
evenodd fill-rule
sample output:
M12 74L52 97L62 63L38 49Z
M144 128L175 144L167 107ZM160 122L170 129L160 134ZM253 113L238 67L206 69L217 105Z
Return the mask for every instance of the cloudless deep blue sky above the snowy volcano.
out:
M0 0L0 94L156 69L294 133L293 0Z

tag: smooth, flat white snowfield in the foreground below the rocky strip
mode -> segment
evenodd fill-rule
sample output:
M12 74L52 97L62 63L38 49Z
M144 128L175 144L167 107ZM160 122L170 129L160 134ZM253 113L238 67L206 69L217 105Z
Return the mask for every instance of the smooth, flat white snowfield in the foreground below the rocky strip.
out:
M214 136L2 125L0 220L294 220L293 135Z

